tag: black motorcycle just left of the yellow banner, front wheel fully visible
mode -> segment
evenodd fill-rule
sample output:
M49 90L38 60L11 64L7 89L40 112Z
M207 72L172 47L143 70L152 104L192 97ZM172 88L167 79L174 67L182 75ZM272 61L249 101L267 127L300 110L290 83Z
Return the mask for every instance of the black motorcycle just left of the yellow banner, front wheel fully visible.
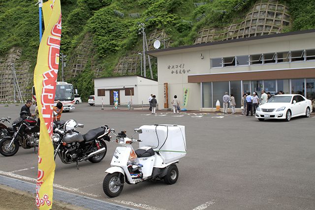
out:
M0 140L0 153L3 156L16 154L20 146L24 149L38 147L39 125L33 117L22 113L12 122L12 129Z

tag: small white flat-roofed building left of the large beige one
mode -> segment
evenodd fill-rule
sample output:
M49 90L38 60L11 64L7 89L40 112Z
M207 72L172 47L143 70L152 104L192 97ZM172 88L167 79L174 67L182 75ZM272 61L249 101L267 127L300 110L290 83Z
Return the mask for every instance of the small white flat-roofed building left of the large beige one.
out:
M114 105L114 91L118 91L118 105L149 104L150 94L158 98L158 81L137 75L96 78L94 80L95 105Z

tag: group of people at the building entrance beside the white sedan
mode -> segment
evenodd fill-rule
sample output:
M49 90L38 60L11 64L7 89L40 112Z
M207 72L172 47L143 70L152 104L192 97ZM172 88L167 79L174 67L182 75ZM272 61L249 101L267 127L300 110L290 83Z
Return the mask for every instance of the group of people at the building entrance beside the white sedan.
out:
M280 90L278 94L284 94L284 91ZM265 90L261 90L261 96L258 97L257 92L253 92L251 95L251 92L247 92L243 94L243 97L241 98L241 109L242 109L242 115L249 116L251 112L251 116L256 113L256 108L259 106L259 104L264 104L271 98L272 95L270 92L265 92ZM225 92L223 95L223 114L227 114L227 108L228 103L230 103L232 113L235 114L235 98L233 94L228 94L228 92Z

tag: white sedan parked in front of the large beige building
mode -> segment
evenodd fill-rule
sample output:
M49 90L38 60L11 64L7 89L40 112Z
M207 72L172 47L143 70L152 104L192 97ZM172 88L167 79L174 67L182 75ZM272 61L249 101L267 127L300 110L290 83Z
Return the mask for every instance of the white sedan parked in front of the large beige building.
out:
M281 94L271 97L267 103L259 105L256 109L256 118L283 119L290 121L291 118L302 116L310 117L312 101L299 94Z

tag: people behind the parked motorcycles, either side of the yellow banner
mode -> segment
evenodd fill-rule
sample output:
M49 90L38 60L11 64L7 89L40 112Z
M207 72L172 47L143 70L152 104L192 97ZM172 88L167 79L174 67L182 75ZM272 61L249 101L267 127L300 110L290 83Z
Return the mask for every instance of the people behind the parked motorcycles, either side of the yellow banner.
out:
M60 121L61 118L61 114L63 113L63 103L60 101L56 101L57 104L56 106L54 106L54 121ZM38 108L37 108L37 104L36 104L36 108L35 108L35 112L34 114L31 113L31 108L32 106L32 101L31 100L27 100L26 104L24 106L22 106L21 108L21 112L20 112L20 116L22 115L27 115L27 116L31 116L31 117L36 117L38 118L38 124L39 124L39 113L38 113Z

